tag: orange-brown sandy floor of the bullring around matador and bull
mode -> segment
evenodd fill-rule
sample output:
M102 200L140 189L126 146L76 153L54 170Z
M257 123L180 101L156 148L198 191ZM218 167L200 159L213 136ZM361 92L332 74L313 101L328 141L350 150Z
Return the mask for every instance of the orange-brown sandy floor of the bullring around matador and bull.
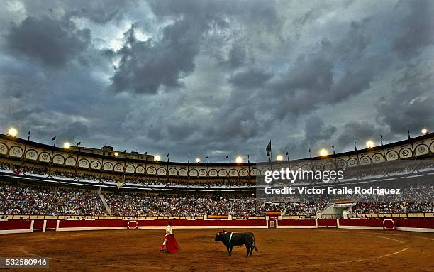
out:
M133 224L133 222L132 222ZM133 227L133 226L132 226ZM228 230L228 229L226 229ZM230 229L245 232L245 229ZM432 271L434 234L352 229L250 229L259 252L214 241L217 229L174 229L177 254L160 252L160 229L1 236L2 256L43 256L74 271ZM25 243L23 243L25 239Z

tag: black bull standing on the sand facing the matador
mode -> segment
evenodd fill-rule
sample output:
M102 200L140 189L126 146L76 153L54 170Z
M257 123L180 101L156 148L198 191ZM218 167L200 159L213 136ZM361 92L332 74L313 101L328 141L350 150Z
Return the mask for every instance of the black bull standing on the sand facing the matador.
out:
M231 234L232 237L230 237ZM253 249L257 251L255 236L252 232L218 232L216 234L216 241L221 241L226 246L229 256L232 255L233 246L243 246L243 244L245 244L245 248L247 249L246 257L252 256Z

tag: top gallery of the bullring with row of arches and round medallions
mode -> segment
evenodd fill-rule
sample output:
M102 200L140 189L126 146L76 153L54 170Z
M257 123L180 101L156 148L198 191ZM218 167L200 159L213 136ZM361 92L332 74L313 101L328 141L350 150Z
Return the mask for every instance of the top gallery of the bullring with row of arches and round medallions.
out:
M182 163L157 161L155 156L71 146L54 147L0 134L0 161L40 165L55 169L104 173L104 175L135 175L156 178L225 179L255 178L271 168L291 170L333 170L373 165L385 161L431 157L434 133L426 133L404 141L396 141L357 151L336 153L289 161L255 163Z

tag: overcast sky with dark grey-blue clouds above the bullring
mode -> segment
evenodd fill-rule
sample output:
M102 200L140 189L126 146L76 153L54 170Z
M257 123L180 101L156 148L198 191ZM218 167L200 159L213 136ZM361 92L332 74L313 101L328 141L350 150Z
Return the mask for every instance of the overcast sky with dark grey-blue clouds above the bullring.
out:
M265 161L434 130L434 1L0 1L0 129ZM247 159L245 158L245 161Z

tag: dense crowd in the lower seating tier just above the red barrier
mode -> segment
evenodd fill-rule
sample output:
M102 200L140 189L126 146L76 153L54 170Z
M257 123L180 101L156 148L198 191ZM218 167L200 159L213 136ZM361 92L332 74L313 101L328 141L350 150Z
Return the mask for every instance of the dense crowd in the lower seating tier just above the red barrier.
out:
M0 183L1 214L44 215L108 215L98 192L72 187ZM264 216L268 210L286 215L313 217L331 202L313 200L285 200L263 202L247 194L163 194L142 192L105 192L102 196L113 216L170 216L201 217L226 215L233 217ZM417 185L404 189L402 195L381 199L361 196L350 213L413 213L434 212L433 185Z

